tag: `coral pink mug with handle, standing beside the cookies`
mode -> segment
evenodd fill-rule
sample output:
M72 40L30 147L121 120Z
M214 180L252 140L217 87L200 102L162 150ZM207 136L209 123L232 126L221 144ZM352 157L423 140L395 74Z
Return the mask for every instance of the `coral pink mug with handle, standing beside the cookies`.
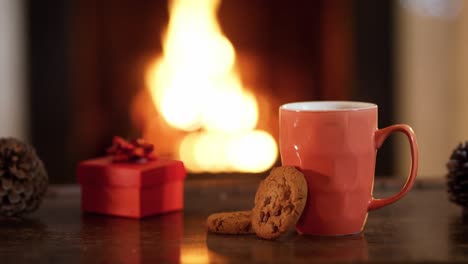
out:
M403 132L411 147L411 169L403 189L374 199L377 150L392 132ZM408 125L377 128L377 105L363 102L297 102L280 107L280 153L284 166L305 175L307 202L296 229L309 235L362 232L371 210L402 198L413 186L418 145Z

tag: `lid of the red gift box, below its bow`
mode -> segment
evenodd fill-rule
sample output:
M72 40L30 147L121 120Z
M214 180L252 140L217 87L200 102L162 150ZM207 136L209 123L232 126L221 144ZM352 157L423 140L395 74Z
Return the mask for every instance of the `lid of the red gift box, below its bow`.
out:
M159 158L145 163L115 163L111 157L86 160L78 165L77 178L82 185L147 187L180 181L186 177L179 160Z

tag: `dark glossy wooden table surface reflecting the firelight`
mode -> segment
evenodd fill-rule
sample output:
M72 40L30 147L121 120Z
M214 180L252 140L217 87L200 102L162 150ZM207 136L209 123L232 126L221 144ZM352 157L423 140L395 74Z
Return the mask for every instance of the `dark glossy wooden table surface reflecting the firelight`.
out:
M277 241L208 234L218 211L249 209L258 179L187 180L184 212L132 220L82 214L77 186L53 186L26 219L0 220L0 263L468 262L468 218L440 183L419 182L403 200L369 214L356 236ZM376 196L397 190L378 182Z

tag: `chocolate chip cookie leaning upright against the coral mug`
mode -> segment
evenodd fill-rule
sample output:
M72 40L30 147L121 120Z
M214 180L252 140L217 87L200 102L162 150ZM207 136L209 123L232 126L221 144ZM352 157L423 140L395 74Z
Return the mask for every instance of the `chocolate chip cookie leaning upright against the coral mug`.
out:
M307 200L304 174L292 166L274 168L260 183L252 210L252 228L265 239L274 239L291 230L299 220Z

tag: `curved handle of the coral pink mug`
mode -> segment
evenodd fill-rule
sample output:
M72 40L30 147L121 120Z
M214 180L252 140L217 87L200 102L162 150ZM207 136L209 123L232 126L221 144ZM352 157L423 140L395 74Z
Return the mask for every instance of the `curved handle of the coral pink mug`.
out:
M406 180L405 185L401 191L389 198L384 199L374 199L369 203L368 210L372 211L375 209L379 209L386 205L392 204L398 200L400 200L405 194L409 192L411 187L413 187L414 180L416 179L416 173L418 171L418 143L416 142L416 137L414 135L413 129L408 125L393 125L383 129L379 129L375 132L374 140L375 140L375 148L379 149L382 146L382 143L387 139L387 137L393 132L402 132L408 137L408 141L410 143L411 148L411 169L408 175L408 179Z

